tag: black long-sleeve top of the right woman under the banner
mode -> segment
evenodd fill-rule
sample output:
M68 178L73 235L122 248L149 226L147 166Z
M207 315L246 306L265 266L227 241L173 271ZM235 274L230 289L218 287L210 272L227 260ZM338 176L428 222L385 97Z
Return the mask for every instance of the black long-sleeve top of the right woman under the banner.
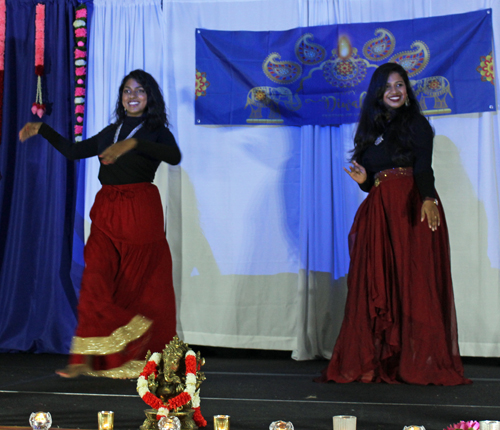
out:
M358 160L358 163L366 169L368 174L367 180L360 185L363 191L370 191L375 182L375 174L382 170L393 169L395 167L413 167L413 176L422 199L436 197L434 172L432 170L434 132L429 121L422 115L418 115L414 121L416 121L416 124L413 129L416 131L414 136L413 163L396 165L392 161L392 145L388 139L397 138L398 133L394 133L394 130L389 125L382 135L382 142L378 145L370 145ZM399 131L399 133L405 132L407 131Z

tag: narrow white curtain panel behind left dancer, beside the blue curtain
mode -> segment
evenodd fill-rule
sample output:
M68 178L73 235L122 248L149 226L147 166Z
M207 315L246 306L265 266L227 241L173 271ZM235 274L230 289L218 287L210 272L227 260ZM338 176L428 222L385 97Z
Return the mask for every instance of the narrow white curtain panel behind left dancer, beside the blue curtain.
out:
M144 69L166 88L166 50L161 0L94 0L89 34L86 135L93 136L113 120L118 87L134 69ZM168 103L168 94L165 101ZM175 134L175 131L174 131ZM176 169L173 167L172 169ZM101 188L99 161L86 163L85 237L89 211ZM162 163L155 183L166 207L168 169Z

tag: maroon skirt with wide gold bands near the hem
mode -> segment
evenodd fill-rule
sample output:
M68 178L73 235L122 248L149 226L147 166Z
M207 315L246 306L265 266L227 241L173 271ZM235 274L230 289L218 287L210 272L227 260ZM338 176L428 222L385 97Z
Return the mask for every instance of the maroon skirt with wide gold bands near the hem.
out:
M71 364L95 376L137 377L149 350L176 334L172 258L158 189L105 185L90 212Z

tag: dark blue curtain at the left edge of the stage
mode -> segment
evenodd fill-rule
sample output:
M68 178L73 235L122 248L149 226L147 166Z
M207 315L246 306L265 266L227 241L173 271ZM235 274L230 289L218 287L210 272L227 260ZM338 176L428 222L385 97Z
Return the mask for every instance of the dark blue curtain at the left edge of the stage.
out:
M0 352L67 352L78 291L70 279L78 164L18 132L35 101L35 7L45 3L42 118L71 138L77 0L7 0L0 146Z

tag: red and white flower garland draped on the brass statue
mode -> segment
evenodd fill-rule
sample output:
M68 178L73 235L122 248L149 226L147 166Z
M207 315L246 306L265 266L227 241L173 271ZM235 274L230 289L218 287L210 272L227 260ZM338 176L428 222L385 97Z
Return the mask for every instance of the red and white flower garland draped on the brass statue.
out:
M169 399L167 403L163 403L161 399L156 397L151 391L149 391L148 386L148 376L151 374L158 376L158 365L160 364L161 354L155 352L151 355L150 359L147 361L144 369L137 379L137 392L141 399L153 409L157 409L156 418L168 416L169 411L176 410L187 403L191 402L194 409L193 419L198 427L205 427L207 422L200 411L200 390L196 390L196 355L192 350L186 352L186 389Z

